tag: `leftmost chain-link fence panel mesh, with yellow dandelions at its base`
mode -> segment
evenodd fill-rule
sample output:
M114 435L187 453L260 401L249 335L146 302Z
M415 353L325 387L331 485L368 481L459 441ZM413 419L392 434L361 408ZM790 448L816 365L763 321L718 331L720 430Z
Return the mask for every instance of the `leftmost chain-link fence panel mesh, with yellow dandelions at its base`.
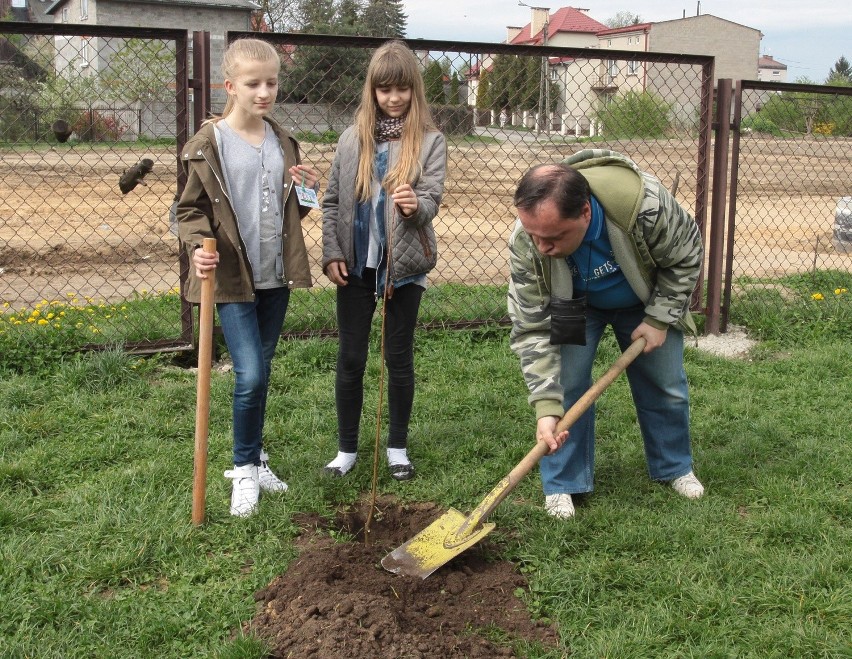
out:
M181 335L169 230L180 33L150 32L0 34L7 359L36 340L61 353Z

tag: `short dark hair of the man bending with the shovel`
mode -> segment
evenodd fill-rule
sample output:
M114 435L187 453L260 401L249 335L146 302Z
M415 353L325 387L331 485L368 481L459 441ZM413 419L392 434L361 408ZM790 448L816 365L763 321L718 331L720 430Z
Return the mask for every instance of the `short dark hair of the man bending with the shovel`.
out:
M591 198L589 182L576 169L563 163L536 165L518 181L515 207L531 210L545 199L553 199L559 216L576 218Z

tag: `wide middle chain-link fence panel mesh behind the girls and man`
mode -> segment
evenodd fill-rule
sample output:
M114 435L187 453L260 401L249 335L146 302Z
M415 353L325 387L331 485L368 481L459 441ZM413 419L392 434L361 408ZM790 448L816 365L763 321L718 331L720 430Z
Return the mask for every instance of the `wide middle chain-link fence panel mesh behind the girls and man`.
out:
M250 36L230 33L229 39ZM258 36L251 34L251 36ZM323 183L338 135L351 125L372 49L381 39L263 34L282 53L275 117L299 138ZM433 117L448 140L435 220L439 259L421 324L461 326L506 318L507 240L515 184L531 166L583 148L613 149L659 176L703 223L712 58L624 51L416 40ZM213 109L222 107L213 99ZM324 187L324 186L323 186ZM320 274L322 218L304 223L319 290L308 331L335 326ZM325 292L328 292L327 290Z

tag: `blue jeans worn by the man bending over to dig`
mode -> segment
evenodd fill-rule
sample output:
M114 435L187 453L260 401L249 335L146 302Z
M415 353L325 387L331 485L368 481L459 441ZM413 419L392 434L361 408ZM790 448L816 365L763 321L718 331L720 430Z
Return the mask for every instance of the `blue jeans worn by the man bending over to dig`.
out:
M645 317L642 307L594 309L586 313L586 345L562 346L562 386L567 410L592 385L592 363L607 325L619 346L630 345L630 335ZM669 328L665 343L641 354L627 367L627 379L636 406L645 445L648 473L669 481L692 471L689 436L689 391L683 369L683 333ZM595 469L595 409L589 408L568 430L568 440L541 460L545 495L591 492Z

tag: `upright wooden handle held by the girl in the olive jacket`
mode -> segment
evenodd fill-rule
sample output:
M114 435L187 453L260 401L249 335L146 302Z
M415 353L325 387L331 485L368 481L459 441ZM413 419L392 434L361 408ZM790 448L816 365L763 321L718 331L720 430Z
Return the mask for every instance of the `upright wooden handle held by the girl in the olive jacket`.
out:
M205 252L216 251L216 239L205 238ZM201 280L201 309L198 314L198 382L195 397L195 456L192 473L192 523L204 522L207 492L207 436L210 422L210 370L213 362L213 294L216 270Z

